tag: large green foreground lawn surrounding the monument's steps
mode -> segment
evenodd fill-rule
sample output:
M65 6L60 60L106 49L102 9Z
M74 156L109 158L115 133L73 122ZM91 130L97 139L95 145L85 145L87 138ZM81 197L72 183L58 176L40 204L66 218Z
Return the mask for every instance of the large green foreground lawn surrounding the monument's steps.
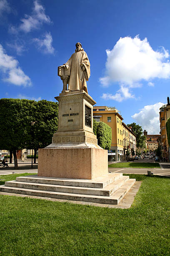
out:
M0 195L0 255L170 255L170 179L130 177L129 209Z

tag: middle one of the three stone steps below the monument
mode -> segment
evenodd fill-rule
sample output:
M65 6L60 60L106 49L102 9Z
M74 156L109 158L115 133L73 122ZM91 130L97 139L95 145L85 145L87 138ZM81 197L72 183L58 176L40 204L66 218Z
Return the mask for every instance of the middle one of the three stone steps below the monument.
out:
M111 184L107 185L105 188L89 188L89 187L73 187L73 186L62 186L62 185L52 185L52 184L40 184L32 182L20 182L20 181L8 181L5 182L6 187L18 187L24 189L37 189L43 191L51 192L62 192L62 193L72 193L81 195L100 195L100 196L110 196L116 189L121 187L125 182L127 182L129 176L122 176L120 179L113 181Z

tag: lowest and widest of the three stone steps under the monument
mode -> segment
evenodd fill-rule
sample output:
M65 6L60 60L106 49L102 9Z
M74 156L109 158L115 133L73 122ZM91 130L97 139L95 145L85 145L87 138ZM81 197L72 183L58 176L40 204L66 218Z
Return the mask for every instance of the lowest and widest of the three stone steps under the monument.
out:
M51 191L43 191L36 189L24 189L17 187L7 187L5 185L0 186L0 191L22 194L22 195L34 195L39 197L51 197L57 199L65 199L65 200L74 200L74 201L85 201L85 202L96 202L102 204L112 204L117 205L120 200L125 196L125 194L129 191L129 189L135 183L135 179L129 179L125 184L123 184L119 189L116 190L110 197L99 196L99 195L80 195L73 193L62 193L62 192L51 192Z

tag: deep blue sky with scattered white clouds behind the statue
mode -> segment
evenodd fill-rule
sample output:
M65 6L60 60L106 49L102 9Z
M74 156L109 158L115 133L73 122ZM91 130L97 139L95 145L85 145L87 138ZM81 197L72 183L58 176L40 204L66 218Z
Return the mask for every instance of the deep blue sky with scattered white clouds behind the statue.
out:
M0 0L0 98L55 101L57 67L81 42L96 105L159 133L170 96L169 13L168 0Z

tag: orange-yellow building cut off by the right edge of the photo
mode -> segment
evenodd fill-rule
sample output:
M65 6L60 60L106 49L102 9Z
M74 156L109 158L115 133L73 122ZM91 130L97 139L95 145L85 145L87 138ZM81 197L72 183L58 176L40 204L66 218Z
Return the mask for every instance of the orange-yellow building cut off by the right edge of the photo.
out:
M164 105L160 108L160 146L162 151L162 157L168 157L170 161L170 148L168 145L168 138L166 133L166 122L170 118L170 104Z

